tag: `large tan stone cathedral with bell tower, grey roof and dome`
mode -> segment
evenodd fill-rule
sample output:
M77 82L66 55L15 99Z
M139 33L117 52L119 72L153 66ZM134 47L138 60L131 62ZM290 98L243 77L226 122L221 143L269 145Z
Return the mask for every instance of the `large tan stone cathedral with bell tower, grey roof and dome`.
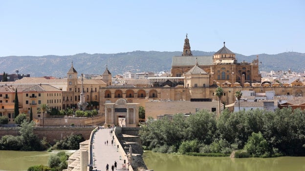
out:
M198 67L210 75L209 85L217 82L220 85L229 82L239 83L242 86L244 83L261 83L258 56L251 63L244 61L238 63L235 53L225 46L225 42L213 56L193 56L186 36L182 55L173 57L171 76L182 77L194 64L198 64Z

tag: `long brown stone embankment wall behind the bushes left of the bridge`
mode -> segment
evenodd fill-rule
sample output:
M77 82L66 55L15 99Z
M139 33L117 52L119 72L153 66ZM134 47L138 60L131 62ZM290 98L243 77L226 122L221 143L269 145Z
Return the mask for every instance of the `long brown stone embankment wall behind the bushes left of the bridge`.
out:
M61 140L65 136L74 134L82 134L84 139L87 140L90 138L90 133L95 127L36 127L34 128L34 134L38 135L40 139L46 137L46 140L50 144L54 144L54 139ZM18 127L14 128L0 128L0 138L3 135L18 135Z

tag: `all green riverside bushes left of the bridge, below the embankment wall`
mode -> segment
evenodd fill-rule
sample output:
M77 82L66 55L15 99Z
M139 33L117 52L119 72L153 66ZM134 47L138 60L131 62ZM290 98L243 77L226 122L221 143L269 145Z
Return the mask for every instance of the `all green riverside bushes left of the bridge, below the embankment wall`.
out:
M5 120L5 119L4 119ZM41 151L41 150L78 150L79 143L85 141L82 134L64 137L60 141L55 140L55 144L51 146L44 137L42 140L33 133L35 123L28 122L24 119L21 123L20 135L4 135L0 139L0 150L24 150L24 151ZM51 155L48 159L48 166L32 166L28 171L62 171L67 168L68 155L65 152L59 152Z

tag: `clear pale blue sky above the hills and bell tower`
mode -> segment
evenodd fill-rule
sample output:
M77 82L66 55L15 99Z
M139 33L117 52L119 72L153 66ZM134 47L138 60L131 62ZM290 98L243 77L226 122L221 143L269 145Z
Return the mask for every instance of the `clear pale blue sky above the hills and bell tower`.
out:
M0 0L0 57L305 53L305 0Z

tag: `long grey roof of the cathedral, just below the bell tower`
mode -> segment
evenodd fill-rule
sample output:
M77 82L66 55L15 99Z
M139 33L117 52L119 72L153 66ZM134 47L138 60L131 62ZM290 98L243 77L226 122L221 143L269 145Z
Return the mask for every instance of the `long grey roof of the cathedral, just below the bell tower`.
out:
M194 66L196 59L199 66L213 64L213 56L174 56L172 66Z

